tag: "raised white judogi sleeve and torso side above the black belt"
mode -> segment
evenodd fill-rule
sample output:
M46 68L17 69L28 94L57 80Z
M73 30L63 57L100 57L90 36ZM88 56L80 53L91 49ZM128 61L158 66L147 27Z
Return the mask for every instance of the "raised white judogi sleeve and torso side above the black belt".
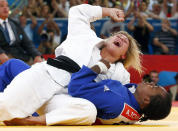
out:
M102 8L82 4L69 11L67 39L55 50L55 55L66 55L80 66L88 65L94 46L102 41L90 28L90 22L102 18Z

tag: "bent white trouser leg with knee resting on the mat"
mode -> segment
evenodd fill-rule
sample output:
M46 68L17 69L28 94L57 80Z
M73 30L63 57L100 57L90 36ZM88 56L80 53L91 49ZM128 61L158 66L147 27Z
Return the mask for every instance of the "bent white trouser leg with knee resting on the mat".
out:
M97 115L93 103L68 94L55 95L38 113L46 114L47 125L91 125Z

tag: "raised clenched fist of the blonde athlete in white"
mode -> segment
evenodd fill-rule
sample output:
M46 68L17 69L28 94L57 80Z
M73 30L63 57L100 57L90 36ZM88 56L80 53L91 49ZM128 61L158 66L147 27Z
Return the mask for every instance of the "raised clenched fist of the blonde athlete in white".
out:
M110 8L109 16L115 22L123 22L124 21L124 11L116 8Z

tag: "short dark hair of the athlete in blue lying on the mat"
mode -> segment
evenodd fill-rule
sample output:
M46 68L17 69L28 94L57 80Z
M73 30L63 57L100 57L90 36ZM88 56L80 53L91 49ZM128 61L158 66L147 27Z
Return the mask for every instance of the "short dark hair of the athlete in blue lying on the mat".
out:
M161 120L167 117L171 111L172 99L171 95L167 92L166 95L152 96L150 103L142 109L143 117L140 121L146 120Z

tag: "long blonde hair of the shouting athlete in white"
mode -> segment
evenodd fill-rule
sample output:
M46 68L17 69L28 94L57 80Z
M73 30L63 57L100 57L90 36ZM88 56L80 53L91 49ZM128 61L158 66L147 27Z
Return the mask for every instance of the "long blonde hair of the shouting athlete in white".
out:
M129 68L132 67L141 74L143 72L142 71L142 64L141 64L141 57L140 57L140 55L142 53L139 49L138 42L125 31L119 31L117 33L114 33L112 36L115 36L115 35L118 35L118 34L125 35L129 40L129 47L128 47L128 50L127 50L127 53L126 53L126 59L124 59L122 61L123 64L124 64L124 67L126 69L129 69Z

